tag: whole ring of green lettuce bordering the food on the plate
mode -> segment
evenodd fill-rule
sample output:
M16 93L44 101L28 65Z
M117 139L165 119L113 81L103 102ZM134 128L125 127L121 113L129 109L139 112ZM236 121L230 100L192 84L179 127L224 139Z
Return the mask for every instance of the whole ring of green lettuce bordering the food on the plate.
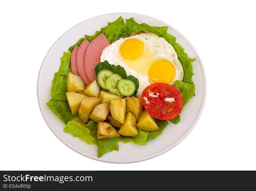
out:
M139 134L135 137L97 139L96 123L92 120L90 120L87 124L83 123L79 118L78 114L72 115L67 103L67 74L69 72L72 72L70 58L74 47L76 45L80 46L80 44L85 39L91 42L100 33L104 33L104 35L110 43L120 38L128 37L131 33L139 30L149 31L151 33L158 35L159 37L163 37L169 44L173 46L177 53L178 59L183 66L184 78L182 81L175 81L173 86L175 86L182 95L184 108L186 103L188 103L189 99L191 99L193 95L195 95L195 85L194 82L192 81L192 76L194 75L192 62L195 61L195 58L192 59L188 57L188 55L184 52L184 49L178 43L176 43L176 38L167 33L167 29L167 26L154 27L149 26L145 23L138 24L134 20L134 18L126 19L125 24L124 19L122 17L119 17L116 21L109 22L108 25L104 28L101 28L100 31L96 31L95 35L85 35L84 38L80 38L76 44L74 44L68 49L70 52L63 53L63 56L61 57L61 65L59 71L54 74L54 79L52 80L52 99L46 104L66 125L64 128L65 133L70 133L74 137L80 138L87 144L95 144L98 146L98 158L100 158L105 153L111 152L113 150L118 151L118 142L133 142L135 144L140 145L146 144L148 141L159 136L164 130L164 128L167 126L168 122L165 120L156 119L157 124L159 126L158 131L148 132L138 130ZM170 120L170 122L174 124L177 124L179 121L180 115Z

